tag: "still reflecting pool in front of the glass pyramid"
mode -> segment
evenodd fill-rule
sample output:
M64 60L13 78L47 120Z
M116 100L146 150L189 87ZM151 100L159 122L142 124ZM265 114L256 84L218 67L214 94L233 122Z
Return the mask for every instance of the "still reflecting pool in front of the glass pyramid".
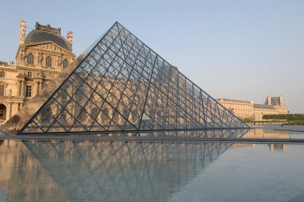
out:
M3 140L0 201L297 201L303 151L300 144Z

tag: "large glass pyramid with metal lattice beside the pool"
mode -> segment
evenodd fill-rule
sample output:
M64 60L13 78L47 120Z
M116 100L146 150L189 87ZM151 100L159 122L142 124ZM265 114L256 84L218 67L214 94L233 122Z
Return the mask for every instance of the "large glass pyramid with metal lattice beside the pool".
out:
M249 127L118 22L47 87L4 128L96 133Z

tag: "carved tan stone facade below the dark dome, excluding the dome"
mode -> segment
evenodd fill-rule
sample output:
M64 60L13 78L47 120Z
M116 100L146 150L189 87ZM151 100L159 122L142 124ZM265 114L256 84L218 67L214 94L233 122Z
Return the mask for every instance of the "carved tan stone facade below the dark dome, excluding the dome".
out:
M16 114L32 97L57 77L66 67L63 63L64 59L69 64L75 58L74 53L51 40L24 44L25 21L22 20L19 37L16 65L13 61L10 64L0 62L0 90L2 90L0 105L5 106L5 113L0 112L0 125ZM47 57L52 58L51 66L47 66Z

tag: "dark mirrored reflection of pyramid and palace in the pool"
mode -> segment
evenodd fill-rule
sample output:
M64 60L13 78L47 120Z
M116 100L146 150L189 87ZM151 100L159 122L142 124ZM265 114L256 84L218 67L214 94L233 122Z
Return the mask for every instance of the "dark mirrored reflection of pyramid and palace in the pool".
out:
M244 135L237 131L219 135ZM5 140L0 195L7 201L168 200L232 145Z

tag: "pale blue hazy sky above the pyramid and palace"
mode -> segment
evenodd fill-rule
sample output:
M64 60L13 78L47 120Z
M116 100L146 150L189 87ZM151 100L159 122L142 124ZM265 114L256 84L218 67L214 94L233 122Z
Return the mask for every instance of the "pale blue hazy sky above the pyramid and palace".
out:
M73 32L78 56L115 21L214 98L283 95L304 113L304 1L2 1L0 61L16 61L19 23Z

